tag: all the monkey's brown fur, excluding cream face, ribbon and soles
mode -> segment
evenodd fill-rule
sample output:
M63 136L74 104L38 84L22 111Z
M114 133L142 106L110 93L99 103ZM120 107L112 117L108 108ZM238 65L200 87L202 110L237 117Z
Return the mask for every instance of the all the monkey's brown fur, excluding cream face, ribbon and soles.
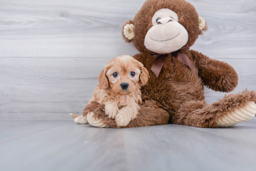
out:
M192 61L194 69L184 65L171 54L165 60L158 77L150 70L156 56L144 46L145 35L152 27L152 16L162 8L168 8L178 15L178 22L184 26L189 34L188 42L179 51L186 54ZM213 104L204 101L203 85L214 91L231 92L236 88L238 76L232 66L225 62L190 50L199 35L207 30L205 26L199 29L199 16L189 2L185 0L147 0L133 21L135 38L126 42L133 42L140 51L134 56L149 71L148 84L141 88L141 115L133 119L126 127L163 125L169 123L190 125L196 127L218 127L216 121L227 113L243 110L248 105L255 105L256 93L245 90L236 94L226 95ZM87 106L86 112L94 116L95 122L119 127L115 120L106 117L104 105L97 102ZM255 113L254 113L255 114Z

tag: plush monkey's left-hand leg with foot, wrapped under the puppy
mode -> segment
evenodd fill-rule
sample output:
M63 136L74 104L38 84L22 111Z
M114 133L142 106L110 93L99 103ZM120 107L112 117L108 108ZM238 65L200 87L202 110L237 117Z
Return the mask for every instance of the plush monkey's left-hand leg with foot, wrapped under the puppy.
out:
M96 127L119 128L114 119L105 115L104 105L97 102L91 103L91 112L88 112L88 122ZM93 106L94 105L94 106ZM168 123L169 114L162 108L159 108L154 101L146 101L141 105L140 116L131 120L131 122L122 128L140 127L150 125L164 125Z

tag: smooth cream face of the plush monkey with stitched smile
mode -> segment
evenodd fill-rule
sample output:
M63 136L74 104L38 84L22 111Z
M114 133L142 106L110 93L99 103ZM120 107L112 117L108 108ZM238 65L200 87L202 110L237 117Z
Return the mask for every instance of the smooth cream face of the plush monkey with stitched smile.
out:
M178 15L168 8L155 12L152 24L144 40L148 50L155 53L172 53L188 42L187 30L178 23Z

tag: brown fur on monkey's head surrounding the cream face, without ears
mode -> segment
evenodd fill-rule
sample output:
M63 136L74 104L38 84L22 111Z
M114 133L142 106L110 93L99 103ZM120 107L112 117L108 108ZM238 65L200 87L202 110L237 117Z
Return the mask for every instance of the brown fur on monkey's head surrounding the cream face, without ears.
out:
M133 43L138 51L149 51L144 46L144 39L148 30L153 26L151 22L153 15L162 8L168 8L177 13L179 17L178 22L189 33L189 40L185 45L186 48L192 46L199 34L202 34L202 31L199 30L199 16L195 11L195 7L189 2L185 0L147 0L133 20L135 25L135 39Z

